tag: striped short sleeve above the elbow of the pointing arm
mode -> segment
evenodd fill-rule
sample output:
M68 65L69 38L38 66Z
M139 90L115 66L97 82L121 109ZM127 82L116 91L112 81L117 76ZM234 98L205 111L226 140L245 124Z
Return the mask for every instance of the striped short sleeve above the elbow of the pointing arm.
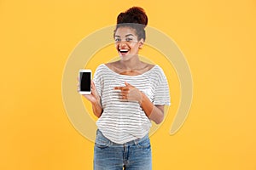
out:
M159 67L160 68L160 67ZM154 105L171 105L169 86L164 71L160 68L158 84L155 87Z

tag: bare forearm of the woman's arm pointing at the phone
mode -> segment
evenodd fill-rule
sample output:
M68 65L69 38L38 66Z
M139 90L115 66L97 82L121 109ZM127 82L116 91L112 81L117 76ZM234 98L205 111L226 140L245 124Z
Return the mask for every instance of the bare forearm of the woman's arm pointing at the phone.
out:
M140 102L141 107L143 108L143 111L145 112L146 116L152 121L154 121L156 124L159 124L164 120L164 106L161 106L162 109L155 106L148 97L142 94L142 101Z

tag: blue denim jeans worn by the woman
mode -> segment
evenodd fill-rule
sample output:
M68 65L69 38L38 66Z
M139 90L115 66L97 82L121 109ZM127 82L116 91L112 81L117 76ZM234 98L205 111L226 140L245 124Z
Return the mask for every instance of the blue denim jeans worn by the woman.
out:
M94 170L151 170L148 135L125 144L115 144L97 130L93 166Z

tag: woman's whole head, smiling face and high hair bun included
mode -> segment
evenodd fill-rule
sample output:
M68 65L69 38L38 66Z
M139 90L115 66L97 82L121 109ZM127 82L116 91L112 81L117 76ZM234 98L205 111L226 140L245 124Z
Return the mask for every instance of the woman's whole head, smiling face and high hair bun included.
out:
M131 56L138 54L138 49L143 48L146 39L144 28L147 24L148 16L143 8L130 8L119 14L113 37L122 59L130 59Z

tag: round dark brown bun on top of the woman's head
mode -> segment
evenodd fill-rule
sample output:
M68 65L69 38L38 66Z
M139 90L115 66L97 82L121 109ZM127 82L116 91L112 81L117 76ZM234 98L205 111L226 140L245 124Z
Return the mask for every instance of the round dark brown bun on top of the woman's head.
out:
M117 17L117 24L123 23L136 23L145 26L148 25L148 17L143 8L132 7L125 11L125 13L120 13Z

